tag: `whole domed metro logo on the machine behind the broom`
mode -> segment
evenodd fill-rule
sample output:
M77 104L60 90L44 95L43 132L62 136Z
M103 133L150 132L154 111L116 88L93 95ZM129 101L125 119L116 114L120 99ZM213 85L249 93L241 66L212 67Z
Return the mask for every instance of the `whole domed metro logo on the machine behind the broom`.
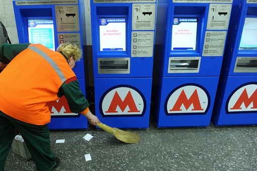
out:
M103 117L143 116L146 100L138 89L129 85L118 85L104 93L99 109Z

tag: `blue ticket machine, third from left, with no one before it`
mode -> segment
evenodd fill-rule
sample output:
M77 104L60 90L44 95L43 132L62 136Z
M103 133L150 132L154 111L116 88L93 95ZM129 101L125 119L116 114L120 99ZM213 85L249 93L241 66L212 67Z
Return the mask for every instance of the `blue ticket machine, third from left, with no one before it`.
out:
M158 1L152 109L158 128L209 126L232 1Z

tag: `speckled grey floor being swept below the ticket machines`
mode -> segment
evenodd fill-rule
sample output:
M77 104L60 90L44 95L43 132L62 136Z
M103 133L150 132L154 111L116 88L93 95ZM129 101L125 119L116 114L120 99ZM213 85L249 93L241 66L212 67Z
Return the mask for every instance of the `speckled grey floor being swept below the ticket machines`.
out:
M61 159L55 170L257 170L256 126L157 129L151 121L149 129L130 131L140 134L139 143L94 128L51 131L51 148ZM5 169L35 170L35 164L11 151Z

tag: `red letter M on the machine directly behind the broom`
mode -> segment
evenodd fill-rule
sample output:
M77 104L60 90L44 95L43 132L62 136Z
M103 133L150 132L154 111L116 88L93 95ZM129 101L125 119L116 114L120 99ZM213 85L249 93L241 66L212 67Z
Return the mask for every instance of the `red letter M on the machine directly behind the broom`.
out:
M118 95L117 92L115 92L113 99L111 101L111 104L109 106L108 111L105 111L106 113L118 113L118 111L116 111L117 106L119 106L120 110L122 112L124 112L125 108L127 106L129 106L130 111L127 112L140 112L134 102L134 99L132 97L131 91L129 91L129 93L127 93L124 101L122 101Z

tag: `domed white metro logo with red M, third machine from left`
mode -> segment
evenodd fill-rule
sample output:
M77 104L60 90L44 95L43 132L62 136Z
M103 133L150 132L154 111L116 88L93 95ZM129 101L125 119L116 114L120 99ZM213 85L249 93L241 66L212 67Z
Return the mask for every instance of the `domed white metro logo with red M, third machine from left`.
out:
M199 84L183 84L174 89L165 101L166 115L205 115L210 95Z

